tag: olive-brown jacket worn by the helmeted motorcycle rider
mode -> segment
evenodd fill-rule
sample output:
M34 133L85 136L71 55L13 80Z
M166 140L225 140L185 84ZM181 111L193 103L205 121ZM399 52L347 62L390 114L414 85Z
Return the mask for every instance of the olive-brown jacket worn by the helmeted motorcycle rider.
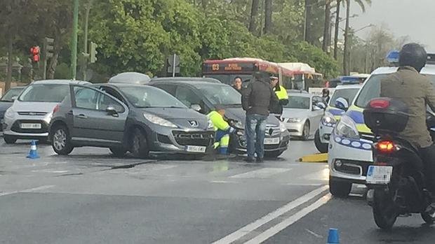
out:
M401 67L381 81L380 95L403 101L408 106L410 117L400 136L422 148L429 147L432 139L426 125L426 108L427 105L432 110L435 108L435 90L429 79L413 67Z

